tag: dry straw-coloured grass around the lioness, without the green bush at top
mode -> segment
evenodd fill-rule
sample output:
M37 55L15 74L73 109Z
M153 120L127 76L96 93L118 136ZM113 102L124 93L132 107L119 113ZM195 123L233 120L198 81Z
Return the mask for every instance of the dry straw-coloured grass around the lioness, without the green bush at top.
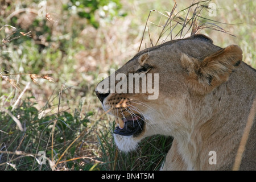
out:
M100 28L97 30L86 24L86 20L61 12L58 8L62 6L60 1L48 1L47 16L40 19L35 16L37 5L32 0L26 2L29 12L18 7L15 9L14 6L10 10L2 6L0 10L3 17L17 19L17 24L6 22L0 28L0 35L5 35L1 36L0 53L1 56L7 55L7 58L1 57L0 77L5 81L0 86L0 104L5 108L15 106L14 109L17 109L16 106L23 107L25 101L34 102L40 117L26 117L21 121L21 109L15 110L16 113L6 112L18 119L22 129L31 123L29 131L33 132L24 134L20 130L16 131L16 124L11 122L5 124L9 127L1 128L0 137L5 139L0 148L0 167L3 169L19 170L22 168L19 161L22 164L25 158L34 159L32 167L24 167L31 170L158 169L164 152L170 147L170 139L161 138L166 143L164 146L159 144L159 138L152 137L144 140L139 151L121 154L115 150L114 143L109 142L114 119L102 110L94 95L98 73L108 73L110 67L120 67L141 49L200 32L209 35L218 46L240 45L246 63L256 66L256 31L250 24L254 17L254 2L229 1L226 3L229 6L226 6L224 2L216 1L216 17L208 16L207 3L210 1L123 2L123 9L129 15L111 22L98 17ZM33 26L36 21L39 22L38 27ZM49 30L40 27L48 27ZM35 34L35 30L39 30L40 35ZM31 42L31 45L28 44L30 51L26 52L26 44L22 42L24 38ZM34 57L29 59L31 55ZM37 71L30 65L34 59L38 61L35 67L43 64ZM38 83L39 79L51 82L53 78L55 82L52 83L28 84L31 79ZM26 100L26 97L33 98ZM72 123L64 111L73 116ZM89 115L91 111L93 113ZM49 118L44 121L46 117ZM65 118L67 120L64 121ZM89 124L81 126L79 122L86 119ZM32 126L38 127L40 131L34 131ZM67 129L64 130L64 127ZM58 142L61 137L64 139ZM15 147L10 147L10 140ZM152 149L152 145L157 147ZM162 151L159 152L159 148ZM46 157L49 168L39 164L36 166L39 150L50 151ZM151 155L152 151L154 156ZM6 161L2 162L3 159ZM149 163L152 166L147 168Z

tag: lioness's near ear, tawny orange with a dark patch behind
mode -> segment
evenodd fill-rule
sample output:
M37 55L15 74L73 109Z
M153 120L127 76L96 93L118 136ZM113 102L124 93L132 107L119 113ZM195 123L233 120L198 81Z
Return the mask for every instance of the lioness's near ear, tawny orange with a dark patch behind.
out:
M181 61L181 64L187 63L188 59ZM192 68L191 66L186 68L189 72L191 88L200 94L211 92L217 86L228 81L230 74L239 67L241 61L242 50L235 45L214 52L205 57L203 61L192 61Z

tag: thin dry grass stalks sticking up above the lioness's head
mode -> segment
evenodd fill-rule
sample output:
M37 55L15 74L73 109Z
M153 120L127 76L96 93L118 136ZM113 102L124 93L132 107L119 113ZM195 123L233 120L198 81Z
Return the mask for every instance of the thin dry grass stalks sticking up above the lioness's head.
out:
M193 1L191 5L188 6L187 8L177 11L176 10L177 3L176 1L174 1L174 6L172 7L171 12L166 11L165 14L157 10L150 10L150 13L148 14L148 18L146 21L146 25L144 27L141 44L139 45L139 51L141 50L146 29L148 31L148 38L150 39L150 47L154 47L158 44L162 44L167 40L181 39L194 34L199 34L200 31L205 29L209 29L212 31L220 31L225 34L234 36L233 34L230 34L229 31L222 28L220 25L217 25L217 24L229 24L229 23L219 22L217 20L209 19L208 17L201 15L201 14L205 14L205 12L209 14L210 11L212 11L212 9L209 7L210 2L211 0ZM150 21L150 16L152 16L151 13L153 12L156 12L161 16L161 20L158 24L155 24ZM166 23L161 25L161 22L163 21L163 19L166 20ZM155 42L151 38L151 32L150 32L148 23L151 23L154 26L160 28L160 33ZM237 24L240 24L240 23L237 23Z

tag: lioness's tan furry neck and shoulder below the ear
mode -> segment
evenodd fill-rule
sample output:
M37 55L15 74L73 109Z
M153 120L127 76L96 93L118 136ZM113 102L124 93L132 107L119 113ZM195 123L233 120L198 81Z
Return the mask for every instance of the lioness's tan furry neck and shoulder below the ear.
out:
M183 169L232 169L256 97L256 82L250 79L251 75L256 77L256 72L253 69L248 71L245 67L247 65L242 64L232 73L229 81L213 92L201 97L190 96L187 102L190 109L187 123L193 124L188 135L175 138L177 146L172 148L179 151L185 164ZM251 130L251 135L255 135L255 124ZM215 158L210 159L213 154Z

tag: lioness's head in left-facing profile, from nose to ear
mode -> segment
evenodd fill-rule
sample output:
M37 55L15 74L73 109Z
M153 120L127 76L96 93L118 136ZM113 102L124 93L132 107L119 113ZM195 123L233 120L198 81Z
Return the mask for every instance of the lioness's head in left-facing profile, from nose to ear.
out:
M214 46L204 35L137 53L96 88L104 110L116 118L118 148L134 150L140 140L155 134L189 140L204 117L217 112L221 94L216 90L241 61L240 47ZM216 101L206 97L213 94ZM204 108L207 102L216 108Z

